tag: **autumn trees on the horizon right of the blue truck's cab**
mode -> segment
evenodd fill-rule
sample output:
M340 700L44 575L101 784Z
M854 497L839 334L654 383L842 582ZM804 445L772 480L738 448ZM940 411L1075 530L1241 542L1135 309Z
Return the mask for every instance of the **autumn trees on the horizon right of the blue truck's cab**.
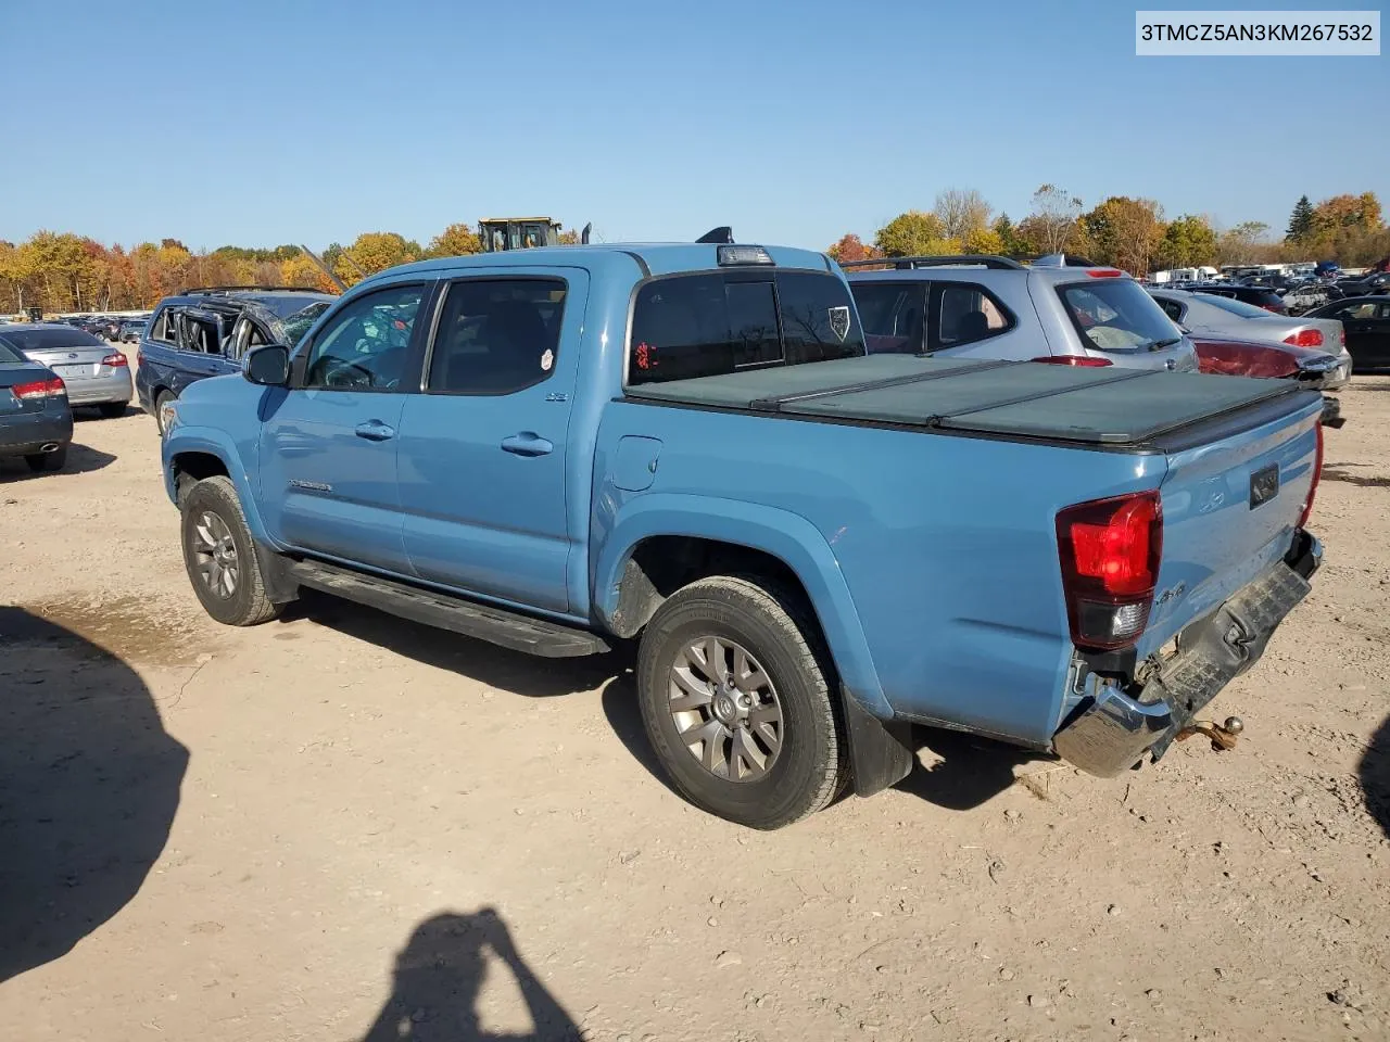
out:
M1027 217L1015 222L1008 214L995 214L974 189L952 188L937 196L931 210L898 214L870 243L851 233L833 243L828 253L841 261L1072 253L1137 276L1163 268L1295 260L1365 267L1390 256L1390 228L1382 220L1380 200L1373 192L1333 196L1316 206L1302 196L1283 238L1273 239L1269 232L1269 225L1261 221L1218 229L1201 214L1166 220L1163 207L1152 199L1109 196L1087 210L1080 199L1056 185L1040 186Z

